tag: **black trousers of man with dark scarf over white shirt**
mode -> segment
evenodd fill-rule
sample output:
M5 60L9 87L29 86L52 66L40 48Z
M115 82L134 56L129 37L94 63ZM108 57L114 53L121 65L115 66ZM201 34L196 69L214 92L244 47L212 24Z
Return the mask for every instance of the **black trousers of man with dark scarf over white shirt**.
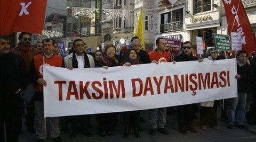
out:
M70 116L73 131L86 131L89 128L91 115Z

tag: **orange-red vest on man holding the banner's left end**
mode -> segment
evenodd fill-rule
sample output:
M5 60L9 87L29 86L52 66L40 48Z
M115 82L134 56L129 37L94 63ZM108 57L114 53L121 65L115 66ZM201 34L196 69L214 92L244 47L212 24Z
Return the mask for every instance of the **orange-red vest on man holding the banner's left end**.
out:
M43 54L34 56L34 66L36 70L36 75L39 76L39 78L43 78L43 57L44 57ZM62 62L63 62L62 58L55 54L50 59L44 58L45 66L61 67ZM34 88L38 92L43 92L42 85L36 84L34 85Z

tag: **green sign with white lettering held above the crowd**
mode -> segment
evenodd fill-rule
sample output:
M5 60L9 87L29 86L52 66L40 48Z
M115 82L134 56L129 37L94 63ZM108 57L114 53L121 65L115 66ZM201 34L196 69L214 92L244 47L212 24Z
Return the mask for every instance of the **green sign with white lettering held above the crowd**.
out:
M229 36L223 34L213 34L214 45L220 51L232 51Z

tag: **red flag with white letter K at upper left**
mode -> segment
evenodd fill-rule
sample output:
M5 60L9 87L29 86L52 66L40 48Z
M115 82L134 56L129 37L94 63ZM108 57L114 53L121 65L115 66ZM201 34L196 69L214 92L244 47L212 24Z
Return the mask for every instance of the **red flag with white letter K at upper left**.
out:
M0 34L41 34L47 0L1 0Z

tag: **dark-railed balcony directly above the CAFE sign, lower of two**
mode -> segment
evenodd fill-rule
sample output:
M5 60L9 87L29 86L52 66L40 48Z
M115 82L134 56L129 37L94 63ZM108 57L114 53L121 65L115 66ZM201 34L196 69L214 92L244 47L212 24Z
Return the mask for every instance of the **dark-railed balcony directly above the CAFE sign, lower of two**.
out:
M181 31L183 29L183 21L177 21L160 25L160 33Z

